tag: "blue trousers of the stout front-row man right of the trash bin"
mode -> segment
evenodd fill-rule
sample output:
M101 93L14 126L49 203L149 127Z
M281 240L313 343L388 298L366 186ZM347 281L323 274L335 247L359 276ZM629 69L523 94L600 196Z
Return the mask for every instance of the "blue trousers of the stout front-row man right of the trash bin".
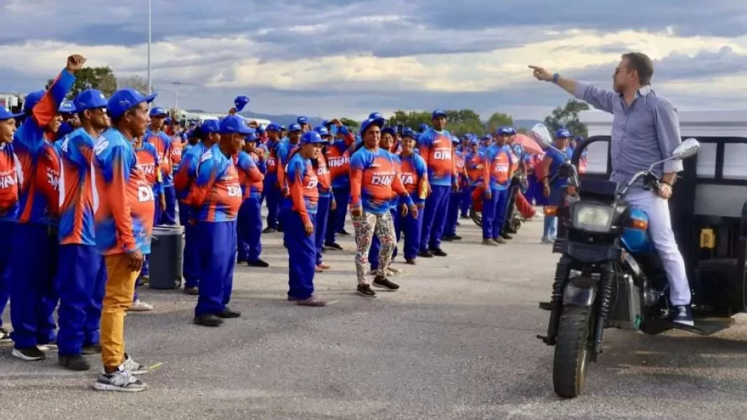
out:
M231 301L236 264L236 222L197 222L199 297L194 315L223 312Z

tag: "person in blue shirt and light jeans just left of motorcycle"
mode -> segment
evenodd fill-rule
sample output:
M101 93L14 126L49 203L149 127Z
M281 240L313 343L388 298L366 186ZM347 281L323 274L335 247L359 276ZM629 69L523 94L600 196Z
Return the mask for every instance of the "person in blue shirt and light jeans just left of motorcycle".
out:
M568 181L560 177L560 166L567 159L565 153L562 151L565 151L565 148L568 147L569 137L571 137L571 133L565 130L565 128L555 131L555 148L548 148L545 152L545 157L540 163L542 165L542 174L545 175L540 180L542 181L542 195L549 200L549 206L545 207L545 209L548 209L548 207L557 208L560 200L560 190ZM545 226L542 229L543 243L553 243L557 231L557 217L554 214L548 213L552 212L545 210Z

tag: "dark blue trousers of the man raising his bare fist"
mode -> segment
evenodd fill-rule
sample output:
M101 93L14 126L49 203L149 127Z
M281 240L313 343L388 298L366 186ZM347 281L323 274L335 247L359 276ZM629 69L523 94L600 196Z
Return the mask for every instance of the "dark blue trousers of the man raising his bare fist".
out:
M16 348L31 348L55 340L57 306L55 271L59 239L56 231L37 223L13 227L10 260L11 338Z

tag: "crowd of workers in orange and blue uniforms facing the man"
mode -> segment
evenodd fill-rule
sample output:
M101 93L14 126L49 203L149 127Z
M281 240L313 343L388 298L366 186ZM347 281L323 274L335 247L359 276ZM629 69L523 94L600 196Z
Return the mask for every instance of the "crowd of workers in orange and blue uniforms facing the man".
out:
M149 281L155 225L184 226L193 323L220 326L241 316L229 307L235 264L268 266L263 233L283 233L288 301L323 307L314 275L329 269L323 251L342 249L336 237L349 234L348 212L356 292L374 298L371 286L399 289L388 277L399 272L391 260L400 236L406 263L446 257L441 241L461 239L459 216L479 202L483 244L498 246L515 233L506 217L513 200L548 204L563 182L557 168L566 156L526 153L510 127L460 140L442 110L418 131L371 113L356 136L339 119L316 128L303 116L288 128L247 125L238 116L244 96L223 119L187 127L150 107L155 94L132 89L110 98L84 90L66 101L85 62L69 57L47 90L26 96L22 113L0 107L0 315L10 297L13 326L7 333L0 324L0 341L12 340L13 357L25 361L56 348L60 365L76 371L100 353L96 389L146 389L135 375L148 369L125 352L124 321L128 310L152 310L135 289ZM556 137L560 150L573 140L565 130Z

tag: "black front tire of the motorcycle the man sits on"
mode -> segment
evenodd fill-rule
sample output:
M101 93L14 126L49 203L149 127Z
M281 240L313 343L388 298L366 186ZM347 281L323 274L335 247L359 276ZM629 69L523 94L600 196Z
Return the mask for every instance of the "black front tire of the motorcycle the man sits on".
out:
M576 398L586 385L591 320L591 308L563 307L553 360L553 386L562 398Z

